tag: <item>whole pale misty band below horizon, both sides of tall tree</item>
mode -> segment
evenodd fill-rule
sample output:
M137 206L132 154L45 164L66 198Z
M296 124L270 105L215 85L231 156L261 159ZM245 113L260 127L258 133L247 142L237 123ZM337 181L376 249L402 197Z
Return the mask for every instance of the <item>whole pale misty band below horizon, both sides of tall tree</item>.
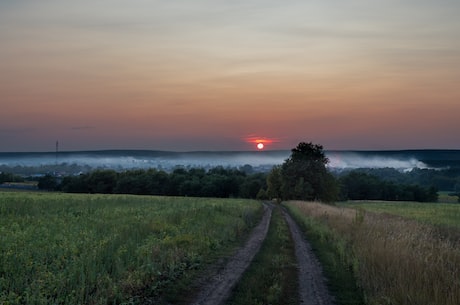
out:
M355 168L449 168L460 165L459 150L406 151L326 151L333 170ZM115 170L175 167L242 167L250 165L255 171L269 171L282 164L290 151L243 152L165 152L165 151L88 151L48 153L0 153L0 171L24 168L69 168L67 172L88 171L94 168ZM70 170L70 168L72 168Z

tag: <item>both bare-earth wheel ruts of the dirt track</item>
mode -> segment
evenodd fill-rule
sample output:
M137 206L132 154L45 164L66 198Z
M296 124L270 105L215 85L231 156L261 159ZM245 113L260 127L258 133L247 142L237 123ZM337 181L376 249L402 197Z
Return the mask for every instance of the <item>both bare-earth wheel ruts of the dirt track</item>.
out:
M253 230L246 244L231 257L222 271L211 276L192 305L223 305L230 296L233 287L250 265L267 236L273 210L272 204L265 204L265 212L260 224ZM322 275L321 265L314 256L310 245L304 239L299 227L283 209L295 242L295 252L298 264L299 298L302 305L332 305L334 304Z

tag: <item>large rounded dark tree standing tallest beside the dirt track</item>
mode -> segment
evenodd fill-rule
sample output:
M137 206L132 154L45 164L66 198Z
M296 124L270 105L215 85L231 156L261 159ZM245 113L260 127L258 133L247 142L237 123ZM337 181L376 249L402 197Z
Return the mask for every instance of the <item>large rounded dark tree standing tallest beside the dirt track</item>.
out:
M268 194L276 194L276 198L282 200L337 200L338 184L327 170L329 160L323 147L301 142L291 152L281 167L274 168L269 174ZM278 183L270 183L273 180Z

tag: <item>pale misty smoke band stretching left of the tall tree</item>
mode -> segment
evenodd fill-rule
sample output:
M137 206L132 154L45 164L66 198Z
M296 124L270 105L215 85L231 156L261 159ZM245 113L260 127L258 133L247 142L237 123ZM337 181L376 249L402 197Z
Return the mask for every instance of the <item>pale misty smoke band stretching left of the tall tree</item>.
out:
M78 165L116 170L175 167L251 165L261 170L281 164L288 151L266 152L164 152L164 151L93 151L59 153L0 153L0 166Z

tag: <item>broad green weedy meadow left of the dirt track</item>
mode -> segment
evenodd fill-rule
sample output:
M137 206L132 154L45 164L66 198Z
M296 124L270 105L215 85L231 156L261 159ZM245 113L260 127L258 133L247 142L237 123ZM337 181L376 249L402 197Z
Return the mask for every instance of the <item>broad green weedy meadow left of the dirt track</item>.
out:
M237 199L2 192L0 304L177 295L179 279L239 243L262 210Z

